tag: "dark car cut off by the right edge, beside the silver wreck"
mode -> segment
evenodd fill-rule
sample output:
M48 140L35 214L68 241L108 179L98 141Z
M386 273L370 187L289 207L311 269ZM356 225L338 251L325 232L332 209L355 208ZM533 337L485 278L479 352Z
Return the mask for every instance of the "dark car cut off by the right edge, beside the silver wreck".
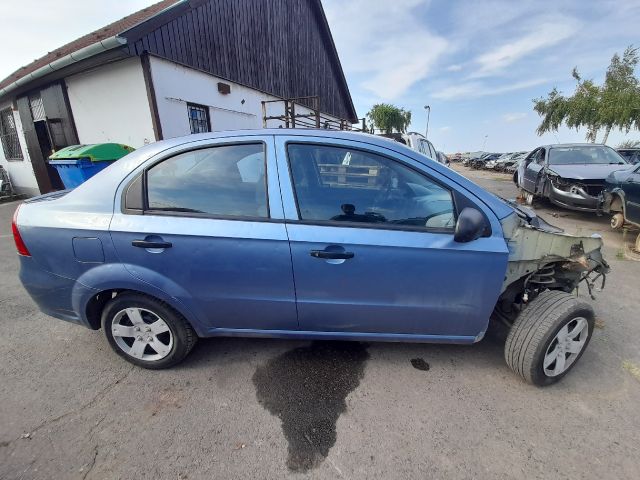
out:
M640 165L611 173L602 192L601 210L611 215L611 228L625 223L640 227Z

